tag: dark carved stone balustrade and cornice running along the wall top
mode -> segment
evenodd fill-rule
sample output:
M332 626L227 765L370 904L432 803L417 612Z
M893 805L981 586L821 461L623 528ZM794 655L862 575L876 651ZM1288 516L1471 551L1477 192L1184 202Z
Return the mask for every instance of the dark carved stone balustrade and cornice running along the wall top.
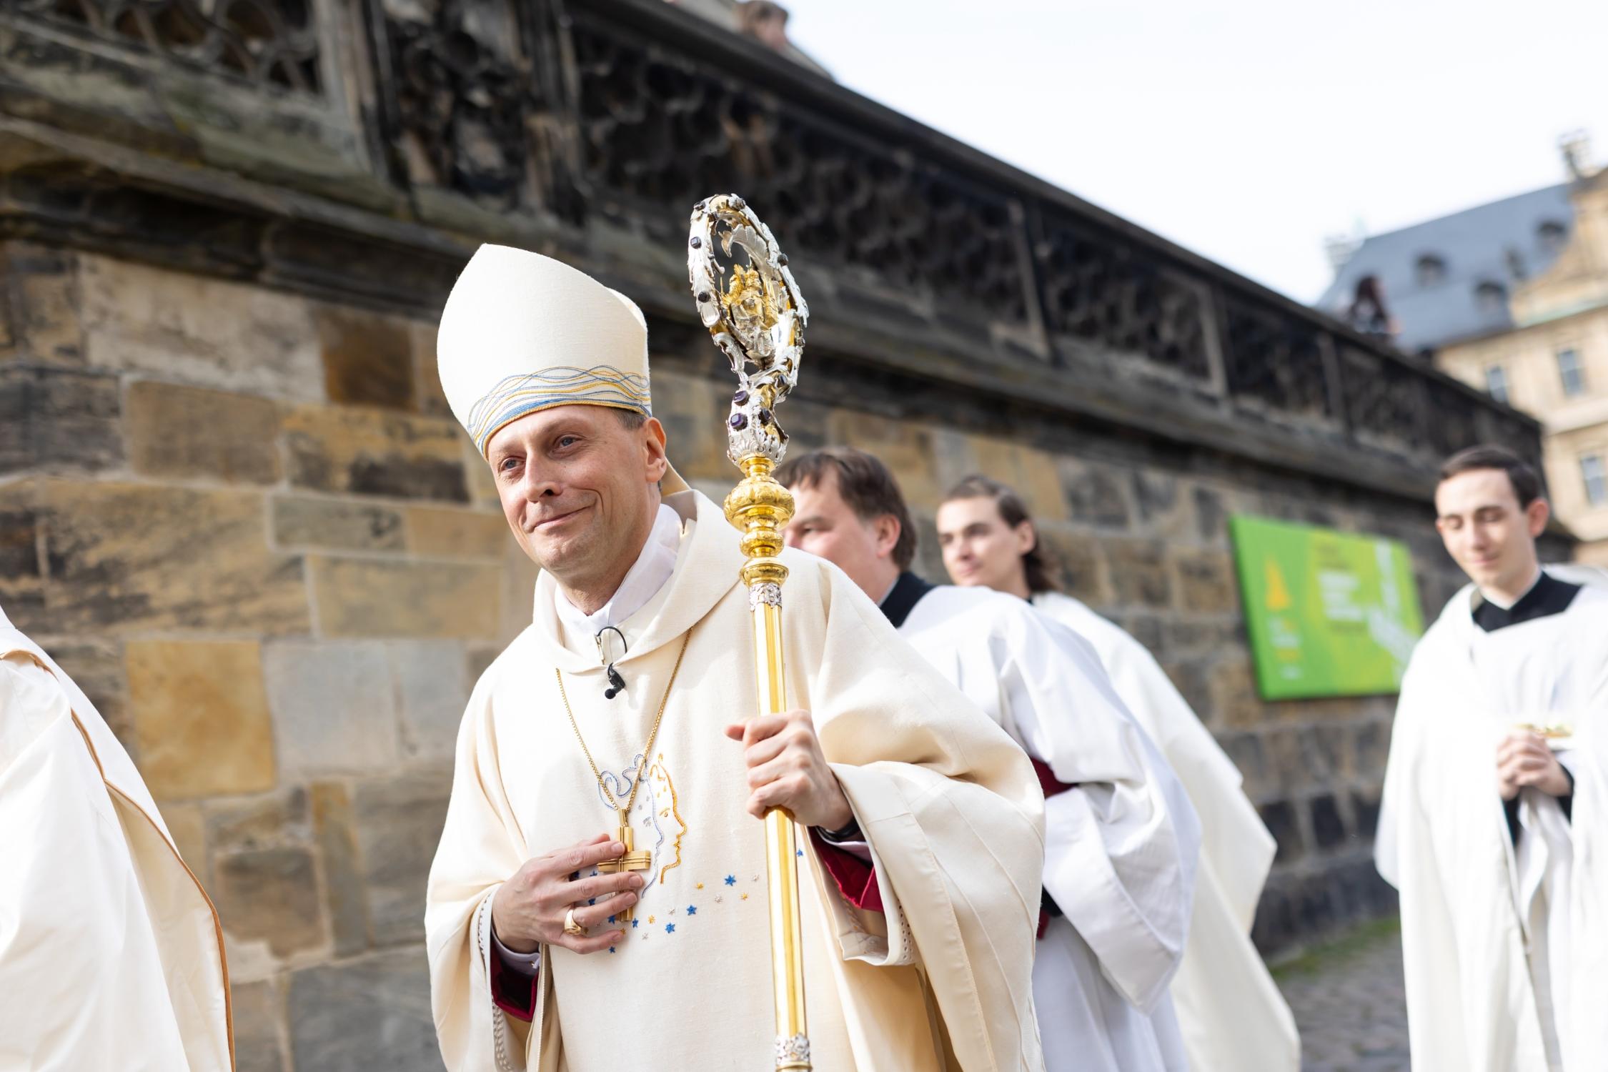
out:
M736 190L817 368L910 416L1005 407L1413 498L1471 442L1539 458L1531 418L662 0L330 10L294 72L246 77L230 27L207 66L0 0L0 235L421 317L479 241L519 244L658 339L693 323L691 203Z

